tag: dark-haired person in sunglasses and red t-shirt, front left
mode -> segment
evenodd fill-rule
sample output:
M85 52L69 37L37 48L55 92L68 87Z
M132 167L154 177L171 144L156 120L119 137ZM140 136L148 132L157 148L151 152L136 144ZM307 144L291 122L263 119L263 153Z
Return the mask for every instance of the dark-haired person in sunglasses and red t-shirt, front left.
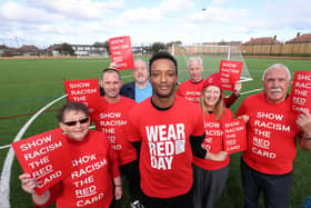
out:
M89 109L80 102L68 102L57 116L70 152L71 174L52 188L38 196L37 181L29 174L19 178L24 191L32 195L37 206L46 207L57 201L58 208L108 208L113 198L122 196L119 166L108 139L100 131L89 130Z

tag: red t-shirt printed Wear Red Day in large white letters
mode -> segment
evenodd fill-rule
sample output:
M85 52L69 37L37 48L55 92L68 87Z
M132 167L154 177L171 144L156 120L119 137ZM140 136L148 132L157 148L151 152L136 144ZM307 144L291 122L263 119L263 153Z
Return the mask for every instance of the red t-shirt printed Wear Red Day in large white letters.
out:
M170 109L159 110L149 98L133 108L130 121L131 140L141 140L142 191L156 198L187 194L193 182L190 136L204 133L199 105L175 96Z

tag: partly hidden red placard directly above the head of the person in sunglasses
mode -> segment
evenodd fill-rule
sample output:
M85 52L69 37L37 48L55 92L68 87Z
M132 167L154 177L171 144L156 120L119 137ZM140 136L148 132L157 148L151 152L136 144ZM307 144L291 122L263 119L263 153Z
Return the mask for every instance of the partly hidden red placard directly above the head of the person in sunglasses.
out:
M63 81L67 99L82 102L89 109L91 116L101 107L99 85L97 79Z

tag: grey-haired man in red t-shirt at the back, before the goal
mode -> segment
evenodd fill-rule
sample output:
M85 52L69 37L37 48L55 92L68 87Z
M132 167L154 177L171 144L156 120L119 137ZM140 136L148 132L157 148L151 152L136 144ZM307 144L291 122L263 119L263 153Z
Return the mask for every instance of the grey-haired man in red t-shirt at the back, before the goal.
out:
M192 102L199 103L204 82L204 79L202 78L203 60L200 57L190 57L188 60L188 72L190 75L190 80L179 85L177 95ZM237 81L234 88L235 91L230 97L224 97L223 99L227 108L231 107L240 97L240 90L242 88L241 82Z

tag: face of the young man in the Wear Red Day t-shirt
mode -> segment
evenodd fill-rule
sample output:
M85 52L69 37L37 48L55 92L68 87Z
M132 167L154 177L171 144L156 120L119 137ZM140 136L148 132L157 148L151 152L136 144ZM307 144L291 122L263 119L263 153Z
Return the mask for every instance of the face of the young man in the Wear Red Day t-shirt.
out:
M151 65L150 82L156 97L172 97L177 80L177 69L171 60L158 59Z

